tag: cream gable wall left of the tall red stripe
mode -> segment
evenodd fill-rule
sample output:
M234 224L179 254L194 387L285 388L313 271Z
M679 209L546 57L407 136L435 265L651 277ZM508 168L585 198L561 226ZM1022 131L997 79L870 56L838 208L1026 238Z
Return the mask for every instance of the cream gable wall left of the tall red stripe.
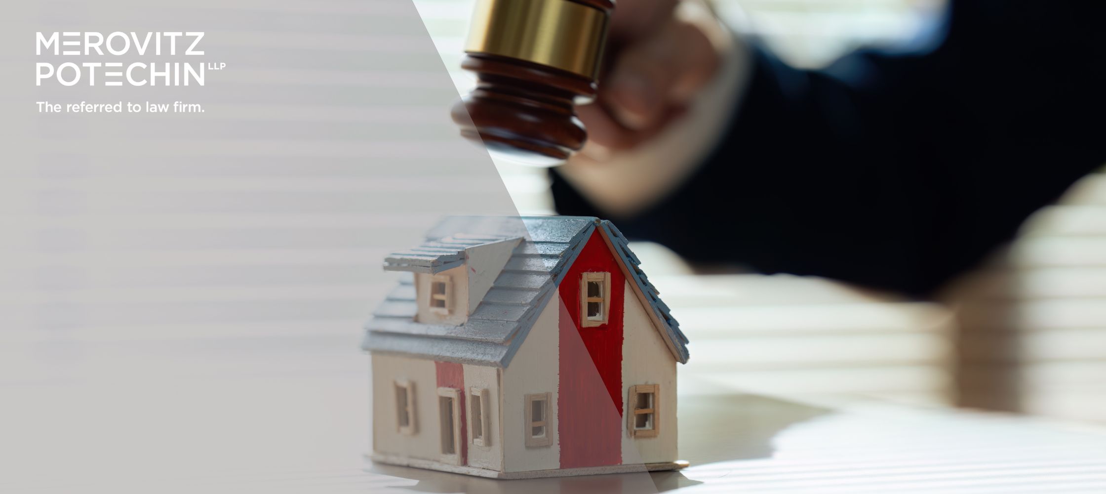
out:
M530 335L522 342L511 364L502 371L504 472L561 467L561 444L556 432L560 310L561 297L555 295L542 310L534 327L530 329ZM552 393L549 433L553 434L553 443L549 446L526 447L524 434L529 421L525 395L545 392Z

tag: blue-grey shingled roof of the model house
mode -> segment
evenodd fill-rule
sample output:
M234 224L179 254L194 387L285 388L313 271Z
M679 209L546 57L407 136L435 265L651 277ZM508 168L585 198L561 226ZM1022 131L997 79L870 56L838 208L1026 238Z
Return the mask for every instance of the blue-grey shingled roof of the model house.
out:
M639 268L640 261L629 250L626 237L611 222L583 216L446 218L427 233L427 240L420 246L389 255L385 269L441 272L463 264L470 248L501 241L518 241L518 245L491 288L460 326L415 321L418 306L414 275L405 272L365 325L362 348L507 367L596 228L616 253L633 291L643 305L651 308L654 323L676 360L687 362L688 339Z

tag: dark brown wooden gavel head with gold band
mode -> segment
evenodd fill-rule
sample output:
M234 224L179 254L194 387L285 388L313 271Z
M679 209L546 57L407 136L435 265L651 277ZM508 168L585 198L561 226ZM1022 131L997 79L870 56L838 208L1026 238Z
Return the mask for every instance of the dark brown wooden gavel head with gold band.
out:
M461 66L477 88L453 105L461 135L538 166L587 140L576 104L595 97L614 0L478 0Z

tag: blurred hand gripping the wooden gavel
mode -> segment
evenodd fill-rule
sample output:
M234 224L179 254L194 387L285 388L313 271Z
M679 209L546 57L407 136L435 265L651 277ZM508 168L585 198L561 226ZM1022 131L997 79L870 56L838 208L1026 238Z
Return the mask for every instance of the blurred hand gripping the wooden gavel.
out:
M701 0L618 0L583 154L604 161L660 133L718 70L728 34Z

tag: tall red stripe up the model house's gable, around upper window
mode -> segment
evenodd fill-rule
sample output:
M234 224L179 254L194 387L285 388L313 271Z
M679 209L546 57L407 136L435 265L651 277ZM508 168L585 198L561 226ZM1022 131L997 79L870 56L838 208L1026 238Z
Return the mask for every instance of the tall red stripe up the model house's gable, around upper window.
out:
M580 278L611 274L607 323L580 326ZM623 298L626 278L598 231L592 234L561 281L557 432L561 467L622 463Z

